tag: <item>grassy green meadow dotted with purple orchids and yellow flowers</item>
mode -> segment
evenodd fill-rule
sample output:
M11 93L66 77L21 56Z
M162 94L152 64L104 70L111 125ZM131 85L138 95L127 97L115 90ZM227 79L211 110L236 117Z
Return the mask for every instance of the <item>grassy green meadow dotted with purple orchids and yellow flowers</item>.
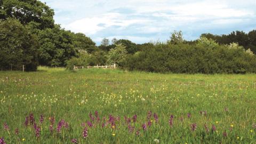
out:
M0 138L6 143L256 143L255 89L253 74L0 71Z

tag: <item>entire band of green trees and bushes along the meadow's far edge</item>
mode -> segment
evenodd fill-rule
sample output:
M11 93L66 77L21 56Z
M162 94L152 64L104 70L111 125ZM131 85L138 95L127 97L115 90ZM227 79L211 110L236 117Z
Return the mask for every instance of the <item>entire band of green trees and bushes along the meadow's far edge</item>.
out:
M113 65L159 73L255 73L256 30L202 34L186 41L174 31L167 42L135 44L127 39L90 37L54 23L54 11L35 0L0 1L0 70L36 70Z

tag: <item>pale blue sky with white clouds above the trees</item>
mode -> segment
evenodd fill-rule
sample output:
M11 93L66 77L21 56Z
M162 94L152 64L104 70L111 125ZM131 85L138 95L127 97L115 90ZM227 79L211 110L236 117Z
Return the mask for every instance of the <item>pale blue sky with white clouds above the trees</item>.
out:
M135 43L166 41L173 30L187 40L202 33L228 34L256 29L255 0L42 0L55 12L55 23L102 38Z

